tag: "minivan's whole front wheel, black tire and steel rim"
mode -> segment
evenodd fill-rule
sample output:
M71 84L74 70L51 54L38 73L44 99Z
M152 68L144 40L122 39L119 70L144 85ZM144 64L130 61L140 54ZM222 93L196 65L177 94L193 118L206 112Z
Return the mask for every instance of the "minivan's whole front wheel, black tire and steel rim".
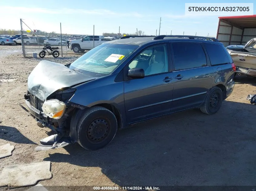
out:
M113 140L117 128L114 113L104 107L91 107L77 123L78 143L88 150L100 149Z

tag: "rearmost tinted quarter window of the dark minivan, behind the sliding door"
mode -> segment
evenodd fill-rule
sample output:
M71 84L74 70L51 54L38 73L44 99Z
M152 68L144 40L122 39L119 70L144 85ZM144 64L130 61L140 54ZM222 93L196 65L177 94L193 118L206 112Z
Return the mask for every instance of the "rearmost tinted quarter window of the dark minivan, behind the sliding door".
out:
M209 55L211 65L225 64L232 62L226 51L218 44L204 43L204 47Z

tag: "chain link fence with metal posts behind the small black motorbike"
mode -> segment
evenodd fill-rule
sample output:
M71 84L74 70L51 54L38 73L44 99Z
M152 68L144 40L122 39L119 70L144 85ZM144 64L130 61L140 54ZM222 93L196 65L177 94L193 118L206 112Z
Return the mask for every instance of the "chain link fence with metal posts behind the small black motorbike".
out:
M15 39L15 43L22 45L23 56L27 58L43 56L43 59L52 60L55 57L73 57L76 59L90 49L119 37L104 37L103 35L93 34L63 34L60 23L61 33L47 33L41 30L32 30L25 21L20 19L21 37ZM120 36L120 34L119 34ZM44 50L43 50L44 49ZM43 53L41 53L43 52ZM58 52L58 53L57 53Z

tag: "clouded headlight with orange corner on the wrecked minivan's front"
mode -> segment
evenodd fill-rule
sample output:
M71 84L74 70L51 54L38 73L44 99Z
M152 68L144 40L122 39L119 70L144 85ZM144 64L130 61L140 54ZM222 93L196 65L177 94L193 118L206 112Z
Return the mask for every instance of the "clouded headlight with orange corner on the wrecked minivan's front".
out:
M45 100L42 105L42 110L44 113L53 119L60 119L65 111L65 108L65 103L57 99Z

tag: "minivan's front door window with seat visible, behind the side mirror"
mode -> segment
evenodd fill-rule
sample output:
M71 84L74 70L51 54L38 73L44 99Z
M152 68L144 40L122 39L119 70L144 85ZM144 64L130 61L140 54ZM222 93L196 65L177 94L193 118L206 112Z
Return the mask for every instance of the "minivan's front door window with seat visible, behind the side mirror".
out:
M153 46L139 53L129 64L129 69L142 68L145 76L168 72L166 45Z

